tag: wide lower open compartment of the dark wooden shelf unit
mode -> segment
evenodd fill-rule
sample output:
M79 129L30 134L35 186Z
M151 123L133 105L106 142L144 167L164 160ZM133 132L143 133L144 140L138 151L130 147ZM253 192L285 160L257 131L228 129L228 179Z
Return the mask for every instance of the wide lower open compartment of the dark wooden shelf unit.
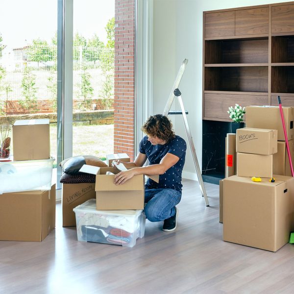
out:
M268 92L268 67L206 67L204 91Z

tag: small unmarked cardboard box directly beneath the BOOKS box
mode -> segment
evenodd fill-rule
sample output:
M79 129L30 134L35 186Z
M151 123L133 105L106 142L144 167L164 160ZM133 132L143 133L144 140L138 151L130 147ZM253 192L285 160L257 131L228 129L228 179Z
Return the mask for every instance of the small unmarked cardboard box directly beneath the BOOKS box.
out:
M272 154L237 153L237 175L272 177Z

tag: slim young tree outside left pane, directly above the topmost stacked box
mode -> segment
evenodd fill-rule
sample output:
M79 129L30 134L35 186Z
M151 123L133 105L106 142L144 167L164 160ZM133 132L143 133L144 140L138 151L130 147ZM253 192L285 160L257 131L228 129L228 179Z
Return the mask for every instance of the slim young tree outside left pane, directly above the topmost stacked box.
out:
M19 100L21 107L28 113L36 113L39 110L37 109L36 93L38 88L36 87L36 75L28 67L25 67L21 87L23 88L22 94L25 98L24 100Z

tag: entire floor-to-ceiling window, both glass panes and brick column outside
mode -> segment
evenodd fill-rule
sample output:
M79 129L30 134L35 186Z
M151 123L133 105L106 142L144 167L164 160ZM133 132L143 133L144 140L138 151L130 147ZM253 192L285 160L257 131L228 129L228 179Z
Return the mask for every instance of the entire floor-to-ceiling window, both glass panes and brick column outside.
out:
M56 167L73 155L134 158L134 117L135 0L1 3L0 124L49 118Z

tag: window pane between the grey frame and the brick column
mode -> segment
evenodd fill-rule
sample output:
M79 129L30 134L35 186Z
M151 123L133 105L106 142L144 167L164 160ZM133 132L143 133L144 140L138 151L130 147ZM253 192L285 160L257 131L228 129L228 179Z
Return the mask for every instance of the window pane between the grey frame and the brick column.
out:
M73 155L113 153L114 4L73 0Z

